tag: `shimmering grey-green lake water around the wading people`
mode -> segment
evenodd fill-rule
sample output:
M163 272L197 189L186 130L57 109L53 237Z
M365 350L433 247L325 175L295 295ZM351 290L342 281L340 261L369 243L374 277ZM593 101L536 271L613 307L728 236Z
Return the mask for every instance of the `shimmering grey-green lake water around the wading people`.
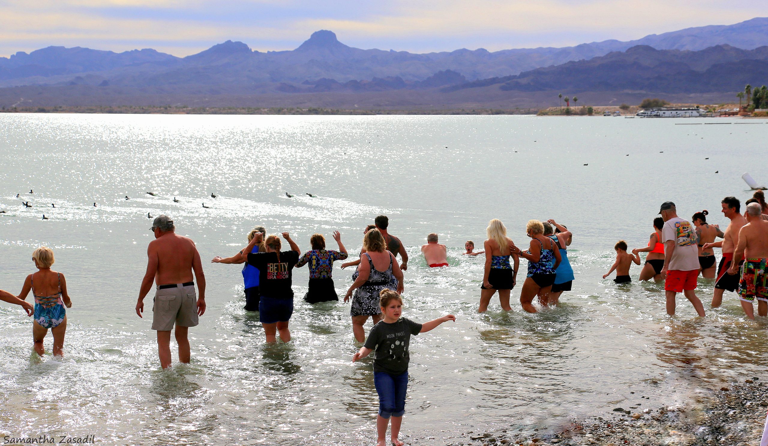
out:
M703 122L730 124L676 125ZM637 395L697 402L703 389L762 375L766 321L745 320L735 294L711 310L706 280L697 293L707 317L680 297L670 318L661 285L601 276L618 239L646 246L661 202L687 218L707 208L724 228L720 200L751 195L740 175L768 182L758 161L766 134L762 120L737 119L2 113L0 288L18 293L35 271L31 251L45 244L74 305L63 362L35 359L31 318L0 306L0 432L104 444L371 444L372 361L350 362L359 346L349 305L304 303L299 268L293 341L266 346L258 316L243 310L240 267L208 262L237 251L258 224L289 231L302 250L316 231L335 248L329 234L339 230L356 253L379 214L412 258L404 316L457 318L412 338L402 429L412 441L548 431L645 401ZM147 212L170 215L194 239L207 278L192 362L167 371L151 312L134 313ZM466 240L482 247L491 218L522 246L531 218L571 228L576 280L561 307L525 313L517 289L510 313L498 297L476 313L484 258L461 253ZM449 247L449 268L429 269L419 254L432 231ZM333 273L341 296L352 272ZM151 295L145 302L149 310Z

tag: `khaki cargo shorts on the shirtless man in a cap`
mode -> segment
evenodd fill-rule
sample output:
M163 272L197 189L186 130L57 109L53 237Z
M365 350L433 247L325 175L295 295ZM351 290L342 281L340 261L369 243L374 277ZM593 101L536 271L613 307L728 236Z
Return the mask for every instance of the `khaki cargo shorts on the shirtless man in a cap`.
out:
M177 326L197 325L197 294L194 285L157 288L152 305L152 330L170 331Z

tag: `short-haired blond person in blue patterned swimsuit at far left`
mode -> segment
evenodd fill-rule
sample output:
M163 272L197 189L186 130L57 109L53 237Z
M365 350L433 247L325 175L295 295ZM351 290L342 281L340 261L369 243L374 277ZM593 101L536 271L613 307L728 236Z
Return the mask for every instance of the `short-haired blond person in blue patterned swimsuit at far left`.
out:
M51 248L45 246L35 249L32 261L38 272L29 274L24 281L19 299L26 300L29 291L35 297L35 313L32 324L32 337L35 340L35 352L43 356L43 339L48 329L53 333L53 355L62 356L64 349L64 333L67 330L67 308L72 307L72 301L67 294L67 280L64 274L51 271L54 257Z

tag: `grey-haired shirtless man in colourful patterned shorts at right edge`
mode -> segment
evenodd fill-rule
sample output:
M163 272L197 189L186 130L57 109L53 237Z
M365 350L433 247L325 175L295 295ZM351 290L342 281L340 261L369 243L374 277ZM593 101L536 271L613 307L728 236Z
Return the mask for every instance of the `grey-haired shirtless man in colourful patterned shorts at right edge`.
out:
M744 313L750 319L755 318L752 306L757 297L757 314L768 316L768 221L763 220L760 203L746 205L746 225L739 231L739 244L733 251L733 262L728 274L737 274L740 261L746 261L741 272L739 299Z

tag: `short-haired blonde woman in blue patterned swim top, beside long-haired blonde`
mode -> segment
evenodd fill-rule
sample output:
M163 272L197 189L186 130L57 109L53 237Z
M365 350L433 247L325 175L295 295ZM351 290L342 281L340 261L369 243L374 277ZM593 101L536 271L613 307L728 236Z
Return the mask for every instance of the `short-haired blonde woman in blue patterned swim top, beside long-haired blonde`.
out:
M560 250L551 238L544 235L544 224L538 220L528 221L526 226L531 245L528 251L521 251L513 246L513 252L517 251L520 257L528 259L528 277L525 277L523 289L520 293L520 303L523 310L528 313L536 313L536 308L531 305L538 294L541 305L547 307L549 292L554 284L554 271L560 264Z

